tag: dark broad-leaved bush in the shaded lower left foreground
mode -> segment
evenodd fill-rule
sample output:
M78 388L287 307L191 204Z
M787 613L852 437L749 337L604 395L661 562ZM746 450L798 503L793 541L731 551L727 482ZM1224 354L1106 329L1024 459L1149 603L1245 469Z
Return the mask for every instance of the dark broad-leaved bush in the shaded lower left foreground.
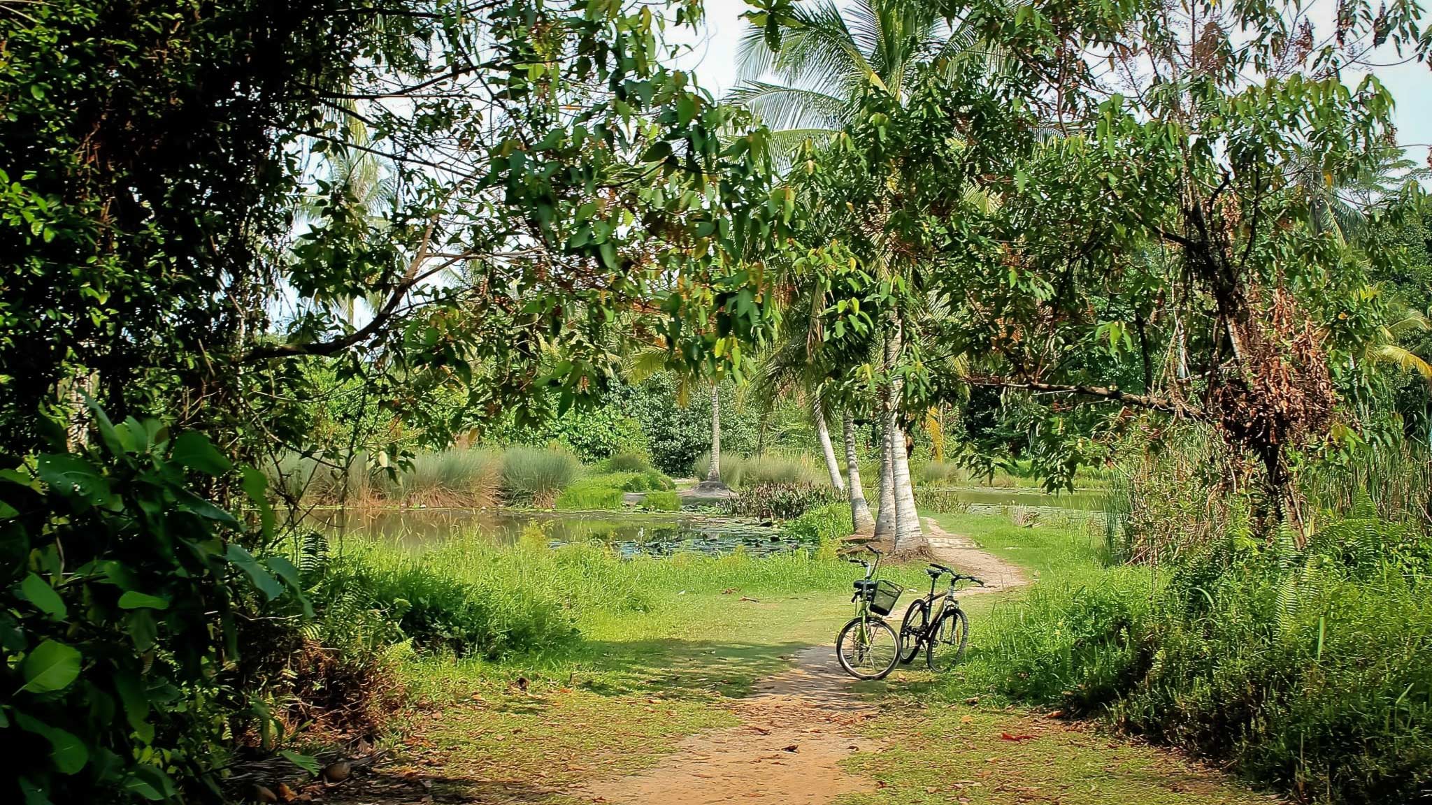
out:
M255 650L252 625L299 619L298 574L255 559L241 540L262 534L183 483L241 480L208 438L96 420L90 445L66 453L56 425L56 453L0 478L0 791L9 802L202 798L226 763L225 731L248 729L262 698L235 683L232 663ZM256 519L272 526L265 486L245 468Z

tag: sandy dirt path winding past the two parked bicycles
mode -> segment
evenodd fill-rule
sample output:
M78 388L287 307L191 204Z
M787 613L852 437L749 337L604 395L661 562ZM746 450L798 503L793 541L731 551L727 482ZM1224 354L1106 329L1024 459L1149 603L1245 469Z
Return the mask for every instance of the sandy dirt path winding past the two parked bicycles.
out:
M1018 567L931 519L925 537L937 561L988 584L961 594L1027 583ZM898 625L899 616L891 620ZM875 718L875 708L856 695L856 680L841 670L833 646L813 646L793 659L793 667L758 683L755 695L732 702L740 726L687 738L646 772L573 794L616 805L825 805L842 794L872 791L872 781L848 773L841 761L881 751L856 729Z

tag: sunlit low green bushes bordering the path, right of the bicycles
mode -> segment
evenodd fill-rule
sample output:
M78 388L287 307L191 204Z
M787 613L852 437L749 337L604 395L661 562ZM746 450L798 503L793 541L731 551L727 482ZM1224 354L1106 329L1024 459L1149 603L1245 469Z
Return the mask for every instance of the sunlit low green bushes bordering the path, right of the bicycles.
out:
M1432 781L1432 597L1392 569L1210 547L1156 584L1041 583L984 630L971 678L1107 713L1300 799L1408 802Z

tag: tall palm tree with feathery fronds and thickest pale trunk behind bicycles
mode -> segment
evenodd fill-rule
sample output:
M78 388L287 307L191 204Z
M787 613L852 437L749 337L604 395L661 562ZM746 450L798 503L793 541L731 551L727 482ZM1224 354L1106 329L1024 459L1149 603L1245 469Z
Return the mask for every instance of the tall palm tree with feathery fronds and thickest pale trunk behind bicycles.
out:
M746 32L743 82L730 100L775 129L773 140L786 152L828 140L855 117L869 92L902 103L921 76L947 73L959 60L987 53L974 47L972 29L962 23L952 27L938 4L922 0L856 0L843 10L832 0L811 0L795 4L782 26L779 52L768 46L765 29ZM878 221L872 228L882 229ZM882 272L894 269L885 255L876 262ZM922 540L899 423L901 381L894 372L902 354L899 314L891 311L881 350L886 380L879 394L884 437L875 536L892 540L896 553L914 550ZM846 445L853 445L849 434ZM856 488L851 487L853 513Z

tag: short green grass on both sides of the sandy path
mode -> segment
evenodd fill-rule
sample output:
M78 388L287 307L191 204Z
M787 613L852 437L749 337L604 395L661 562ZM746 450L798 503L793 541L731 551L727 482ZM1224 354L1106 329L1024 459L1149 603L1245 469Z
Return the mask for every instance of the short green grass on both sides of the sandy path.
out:
M826 514L836 520L833 507ZM1100 540L1083 527L1022 529L967 514L939 521L1041 576L1100 573ZM368 550L387 563L407 561L391 547ZM859 573L828 549L621 560L599 544L548 550L536 536L505 549L460 541L424 554L421 566L465 584L464 594L498 590L503 606L556 612L577 637L461 659L408 650L401 659L414 702L408 738L401 763L382 773L397 786L417 785L405 773L435 776L434 795L551 805L581 801L561 789L649 768L684 736L736 726L723 705L788 667L798 650L828 643L851 616L851 580ZM922 567L892 567L888 576L906 586L908 599L927 586ZM965 599L977 649L997 637L998 613L1017 607L1020 596ZM544 609L551 603L556 610ZM929 672L899 670L861 690L881 705L862 731L888 748L848 761L881 788L842 798L845 805L1254 801L1147 746L1022 709L968 706ZM1035 738L1010 742L1002 733Z

